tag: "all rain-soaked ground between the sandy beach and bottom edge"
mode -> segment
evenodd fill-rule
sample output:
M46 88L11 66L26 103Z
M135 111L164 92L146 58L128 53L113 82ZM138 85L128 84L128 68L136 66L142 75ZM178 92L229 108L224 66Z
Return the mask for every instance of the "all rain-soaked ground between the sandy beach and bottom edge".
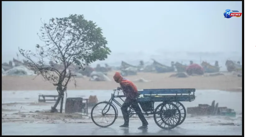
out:
M51 95L55 92L56 91L2 91L2 110L3 108L6 110L11 110L5 111L4 114L49 110L54 103L37 104L36 102L38 95L40 93ZM97 95L100 102L106 99L108 100L111 93L112 91L69 91L68 96L86 98L90 95ZM212 100L215 100L216 103L218 102L220 106L235 109L237 114L242 112L242 92L197 90L195 101L182 103L187 108L198 106L198 104L210 104ZM118 101L121 103L120 99ZM155 105L158 104L156 103ZM60 108L60 106L57 108ZM120 113L120 108L118 108L118 111L119 115L121 116L122 113ZM19 122L19 120L20 119L17 119L16 122ZM77 121L79 121L79 119L77 119ZM123 119L117 119L112 126L109 126L109 128L100 128L94 123L26 124L21 121L20 123L2 123L2 135L242 135L242 126L218 125L218 123L231 122L234 122L237 125L242 124L240 119L235 121L237 122L230 119L226 120L225 118L221 117L203 117L200 120L187 117L184 123L172 130L162 130L156 125L153 119L148 120L149 127L147 130L137 129L139 126L141 126L141 122L138 119L130 119L130 127L128 129L119 128L119 126L123 124ZM91 120L89 120L89 122L91 122Z

